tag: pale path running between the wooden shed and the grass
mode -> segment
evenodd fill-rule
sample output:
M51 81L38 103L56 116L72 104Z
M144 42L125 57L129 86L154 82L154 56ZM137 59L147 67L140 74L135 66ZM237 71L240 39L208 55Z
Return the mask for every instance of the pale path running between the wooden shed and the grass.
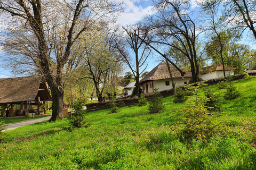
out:
M50 118L51 118L51 116L46 116L46 117L42 117L42 118L36 118L36 119L33 119L33 120L9 123L9 124L5 124L6 126L5 126L4 129L6 129L6 131L9 131L9 130L13 130L13 129L16 129L16 128L19 128L19 127L22 127L22 126L25 126L25 125L28 125L28 124L34 124L34 123L37 123L37 122L48 121L48 120L50 120Z

